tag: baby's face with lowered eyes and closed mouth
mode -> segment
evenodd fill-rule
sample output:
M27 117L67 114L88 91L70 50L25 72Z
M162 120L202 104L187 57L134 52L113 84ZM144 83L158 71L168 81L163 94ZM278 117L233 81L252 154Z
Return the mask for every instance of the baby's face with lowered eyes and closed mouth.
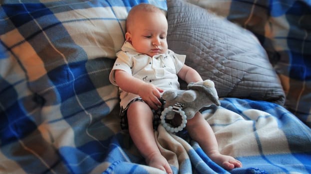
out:
M167 52L167 20L164 14L160 12L142 12L137 15L132 23L134 27L130 28L129 38L137 52L154 55Z

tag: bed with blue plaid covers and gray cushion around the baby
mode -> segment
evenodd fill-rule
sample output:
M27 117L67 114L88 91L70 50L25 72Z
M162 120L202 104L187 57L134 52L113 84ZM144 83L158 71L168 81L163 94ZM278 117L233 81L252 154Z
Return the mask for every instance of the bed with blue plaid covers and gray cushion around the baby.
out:
M140 2L166 11L169 48L214 81L221 105L201 111L220 152L243 163L226 171L159 126L174 174L311 173L308 0L1 0L0 173L162 173L120 129L109 83Z

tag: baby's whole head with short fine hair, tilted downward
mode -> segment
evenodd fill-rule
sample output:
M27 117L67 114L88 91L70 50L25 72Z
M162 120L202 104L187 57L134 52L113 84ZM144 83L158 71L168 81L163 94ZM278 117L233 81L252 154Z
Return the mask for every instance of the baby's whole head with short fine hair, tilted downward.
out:
M154 5L134 6L126 19L125 39L139 53L152 57L167 52L167 20L163 11Z

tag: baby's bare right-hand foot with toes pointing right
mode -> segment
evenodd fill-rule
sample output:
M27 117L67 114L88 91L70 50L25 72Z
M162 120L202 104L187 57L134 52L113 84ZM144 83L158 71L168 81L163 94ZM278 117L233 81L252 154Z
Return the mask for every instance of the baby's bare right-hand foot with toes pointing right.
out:
M239 160L236 160L231 156L222 155L218 151L213 151L209 153L208 156L211 158L211 160L226 170L242 167L242 163Z

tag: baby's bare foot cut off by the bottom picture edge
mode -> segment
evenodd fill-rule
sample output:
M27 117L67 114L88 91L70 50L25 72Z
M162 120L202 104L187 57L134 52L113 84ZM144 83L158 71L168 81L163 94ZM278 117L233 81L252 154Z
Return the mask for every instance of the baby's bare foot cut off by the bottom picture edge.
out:
M165 171L167 174L173 174L170 165L161 154L154 153L149 155L146 158L146 163L148 164L148 166Z

